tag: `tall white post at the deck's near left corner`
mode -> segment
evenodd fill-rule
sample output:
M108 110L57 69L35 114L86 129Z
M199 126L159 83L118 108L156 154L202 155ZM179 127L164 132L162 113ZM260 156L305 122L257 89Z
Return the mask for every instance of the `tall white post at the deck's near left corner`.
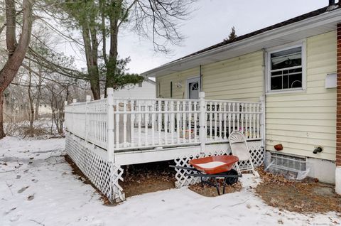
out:
M108 160L114 162L114 89L107 89L108 119L107 119L107 152Z

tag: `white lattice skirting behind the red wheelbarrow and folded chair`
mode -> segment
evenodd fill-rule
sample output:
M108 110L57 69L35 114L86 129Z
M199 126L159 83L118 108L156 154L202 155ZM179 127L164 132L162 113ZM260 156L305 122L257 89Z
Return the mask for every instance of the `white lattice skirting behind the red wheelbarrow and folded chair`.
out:
M252 158L252 163L254 163L254 166L261 166L264 162L264 148L262 147L261 141L248 141L247 142L250 154ZM207 152L207 153L198 153L197 155L190 155L190 156L178 156L178 158L175 158L175 165L176 166L185 166L190 167L190 164L188 161L193 158L202 158L205 156L217 156L217 155L224 155L224 154L230 154L231 150L228 148L227 150L223 151L215 151L214 153ZM245 165L247 165L248 162L242 161L239 163L240 168L244 168ZM192 171L187 171L180 168L175 168L175 186L177 188L180 188L182 186L187 186L190 184L198 183L200 182L200 178L197 177L191 177L186 176L187 174L193 173Z

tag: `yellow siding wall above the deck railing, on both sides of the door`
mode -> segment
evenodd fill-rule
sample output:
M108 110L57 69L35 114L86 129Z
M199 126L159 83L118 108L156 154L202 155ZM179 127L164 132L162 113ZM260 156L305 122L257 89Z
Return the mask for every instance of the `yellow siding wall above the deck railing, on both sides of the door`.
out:
M202 91L206 99L259 101L263 93L263 52L249 53L238 58L202 65ZM186 98L186 80L200 75L200 68L156 77L158 94L163 98ZM178 88L177 84L182 87Z

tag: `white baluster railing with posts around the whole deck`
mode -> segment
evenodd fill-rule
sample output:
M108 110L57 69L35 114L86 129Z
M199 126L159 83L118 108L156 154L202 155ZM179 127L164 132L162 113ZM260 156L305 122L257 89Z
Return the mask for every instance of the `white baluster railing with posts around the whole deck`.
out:
M193 146L228 141L233 130L248 140L262 137L262 102L200 99L116 99L65 106L65 128L92 144L114 151Z

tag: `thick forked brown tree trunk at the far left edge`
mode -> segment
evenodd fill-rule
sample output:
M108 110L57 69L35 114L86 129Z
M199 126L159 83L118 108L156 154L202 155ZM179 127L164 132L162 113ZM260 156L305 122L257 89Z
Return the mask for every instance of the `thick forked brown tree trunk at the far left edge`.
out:
M15 1L5 0L6 4L6 45L9 52L9 59L4 68L0 71L0 139L5 136L3 127L3 104L4 90L11 84L11 81L16 76L23 58L26 55L28 44L31 38L32 29L32 3L31 0L23 0L23 26L18 44L16 44L16 9Z

